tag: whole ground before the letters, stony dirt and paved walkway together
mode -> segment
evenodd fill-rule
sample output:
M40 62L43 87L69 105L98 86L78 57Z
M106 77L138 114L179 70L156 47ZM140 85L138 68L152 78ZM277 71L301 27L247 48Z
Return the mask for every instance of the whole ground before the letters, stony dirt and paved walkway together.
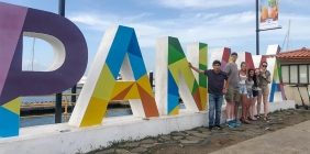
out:
M206 127L146 139L118 141L91 154L211 153L212 154L310 154L310 111L269 113L252 124L209 131ZM299 124L297 124L299 123ZM295 124L295 125L294 125ZM89 154L90 154L89 153Z

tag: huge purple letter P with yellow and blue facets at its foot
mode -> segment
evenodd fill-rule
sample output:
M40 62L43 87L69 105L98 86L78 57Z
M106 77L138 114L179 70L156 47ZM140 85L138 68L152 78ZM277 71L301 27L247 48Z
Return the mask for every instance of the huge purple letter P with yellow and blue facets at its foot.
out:
M53 46L55 59L46 72L22 72L23 35ZM0 2L0 138L19 134L20 96L64 91L80 79L86 66L86 41L73 22Z

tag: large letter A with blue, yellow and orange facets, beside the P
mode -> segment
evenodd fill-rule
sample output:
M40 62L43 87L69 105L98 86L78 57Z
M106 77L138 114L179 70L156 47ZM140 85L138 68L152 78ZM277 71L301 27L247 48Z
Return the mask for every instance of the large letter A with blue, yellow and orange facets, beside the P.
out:
M120 70L124 81L117 81ZM136 35L131 28L115 26L106 31L69 124L101 124L111 100L130 100L135 117L159 116Z

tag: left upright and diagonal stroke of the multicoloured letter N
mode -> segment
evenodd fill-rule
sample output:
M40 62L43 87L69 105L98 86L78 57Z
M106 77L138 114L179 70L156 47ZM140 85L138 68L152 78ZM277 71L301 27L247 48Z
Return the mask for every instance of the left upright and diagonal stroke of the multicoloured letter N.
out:
M155 85L160 114L178 114L179 96L188 110L202 110L198 82L176 37L157 40Z

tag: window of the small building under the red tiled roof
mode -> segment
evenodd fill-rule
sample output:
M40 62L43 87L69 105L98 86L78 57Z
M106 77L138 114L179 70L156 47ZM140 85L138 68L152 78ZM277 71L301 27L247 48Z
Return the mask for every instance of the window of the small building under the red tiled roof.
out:
M281 65L284 84L310 84L310 65Z

